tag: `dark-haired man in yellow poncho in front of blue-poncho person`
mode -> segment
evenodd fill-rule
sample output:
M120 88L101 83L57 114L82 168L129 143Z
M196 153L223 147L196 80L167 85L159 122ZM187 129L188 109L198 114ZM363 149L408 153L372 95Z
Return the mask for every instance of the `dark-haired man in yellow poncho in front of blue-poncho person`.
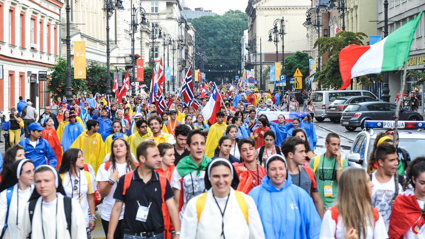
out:
M86 124L89 130L78 136L74 143L72 143L71 148L81 149L84 155L84 164L90 164L95 170L95 173L97 173L105 157L104 143L102 136L97 133L99 122L95 119L90 119Z

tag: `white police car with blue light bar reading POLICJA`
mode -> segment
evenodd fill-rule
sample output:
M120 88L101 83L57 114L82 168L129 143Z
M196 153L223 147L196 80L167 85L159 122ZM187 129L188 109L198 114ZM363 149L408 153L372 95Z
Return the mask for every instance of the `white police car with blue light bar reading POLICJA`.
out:
M391 134L395 128L394 121L365 121L365 128L357 134L350 149L347 160L350 166L367 169L368 158L373 148L373 142L379 132ZM410 154L410 159L425 156L425 121L398 122L399 148Z

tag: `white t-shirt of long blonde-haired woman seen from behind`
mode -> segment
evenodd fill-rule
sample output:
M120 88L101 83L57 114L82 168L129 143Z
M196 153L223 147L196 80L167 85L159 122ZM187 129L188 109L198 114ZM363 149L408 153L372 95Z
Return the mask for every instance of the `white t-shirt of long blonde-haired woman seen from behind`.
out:
M344 239L347 231L344 229L343 218L338 216L338 224L332 219L331 211L327 210L323 216L322 227L320 228L320 239ZM368 226L366 229L366 238L360 233L360 239L386 239L388 238L387 229L384 220L379 213L379 219L375 222L375 228Z

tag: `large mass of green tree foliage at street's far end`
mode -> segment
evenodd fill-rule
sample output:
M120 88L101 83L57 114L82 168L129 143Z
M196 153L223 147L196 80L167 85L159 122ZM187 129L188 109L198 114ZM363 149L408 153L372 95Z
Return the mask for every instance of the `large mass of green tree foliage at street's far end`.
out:
M224 15L203 16L192 20L196 45L206 55L204 72L209 79L233 78L240 66L240 39L247 29L248 16L239 10ZM196 59L200 66L200 59Z

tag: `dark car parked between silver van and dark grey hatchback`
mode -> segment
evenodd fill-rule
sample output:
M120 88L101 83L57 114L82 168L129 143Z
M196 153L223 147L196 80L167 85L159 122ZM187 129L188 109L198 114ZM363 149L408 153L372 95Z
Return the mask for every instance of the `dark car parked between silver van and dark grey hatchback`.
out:
M369 96L345 96L341 98L336 98L328 107L325 114L326 118L329 118L333 123L339 123L341 121L341 115L343 114L344 109L349 104L357 104L361 102L373 102L376 99Z

